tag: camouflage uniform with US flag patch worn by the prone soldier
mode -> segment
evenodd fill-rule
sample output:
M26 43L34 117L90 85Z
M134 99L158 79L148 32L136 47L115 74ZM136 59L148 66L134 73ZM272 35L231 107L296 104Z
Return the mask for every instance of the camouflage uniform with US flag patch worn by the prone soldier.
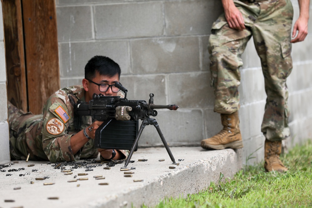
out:
M124 95L119 92L118 96ZM51 162L96 158L99 152L93 139L76 154L71 151L71 136L77 133L73 103L78 100L85 101L85 90L81 85L59 89L52 94L43 107L43 115L24 113L8 103L11 158L25 159L28 153L30 160ZM80 130L92 122L91 116L82 116ZM121 152L128 156L128 151Z

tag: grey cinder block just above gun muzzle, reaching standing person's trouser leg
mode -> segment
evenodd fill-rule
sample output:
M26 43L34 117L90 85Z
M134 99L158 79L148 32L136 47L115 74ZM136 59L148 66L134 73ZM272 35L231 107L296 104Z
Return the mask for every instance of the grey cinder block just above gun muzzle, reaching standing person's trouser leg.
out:
M210 73L193 72L170 74L168 81L169 102L183 108L208 107L214 105Z

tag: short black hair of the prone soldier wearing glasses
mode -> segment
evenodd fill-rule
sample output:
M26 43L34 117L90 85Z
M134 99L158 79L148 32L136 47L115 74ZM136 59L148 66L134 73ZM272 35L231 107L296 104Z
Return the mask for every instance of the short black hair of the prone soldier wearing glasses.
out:
M118 74L120 78L119 65L106 56L93 56L85 65L85 79L92 79L95 77L95 72L98 71L100 75L112 77Z

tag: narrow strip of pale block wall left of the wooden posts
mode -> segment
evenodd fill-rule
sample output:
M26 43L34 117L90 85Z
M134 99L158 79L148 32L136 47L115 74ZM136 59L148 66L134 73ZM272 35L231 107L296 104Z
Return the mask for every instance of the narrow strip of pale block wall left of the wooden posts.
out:
M4 52L2 2L0 1L0 163L10 160L9 126L7 123L7 75Z

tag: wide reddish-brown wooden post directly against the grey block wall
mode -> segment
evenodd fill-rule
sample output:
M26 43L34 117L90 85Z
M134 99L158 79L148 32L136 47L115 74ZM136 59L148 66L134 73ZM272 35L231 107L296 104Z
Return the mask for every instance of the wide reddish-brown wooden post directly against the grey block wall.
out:
M46 100L60 88L54 0L22 0L28 110L41 114Z

